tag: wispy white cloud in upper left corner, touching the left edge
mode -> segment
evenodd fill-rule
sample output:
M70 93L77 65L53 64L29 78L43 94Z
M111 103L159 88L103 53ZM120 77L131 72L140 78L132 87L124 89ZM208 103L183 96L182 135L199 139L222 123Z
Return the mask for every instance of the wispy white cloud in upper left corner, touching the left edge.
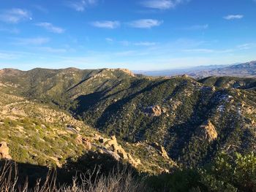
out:
M8 9L1 11L0 20L5 23L19 23L23 20L32 20L31 13L25 9Z

